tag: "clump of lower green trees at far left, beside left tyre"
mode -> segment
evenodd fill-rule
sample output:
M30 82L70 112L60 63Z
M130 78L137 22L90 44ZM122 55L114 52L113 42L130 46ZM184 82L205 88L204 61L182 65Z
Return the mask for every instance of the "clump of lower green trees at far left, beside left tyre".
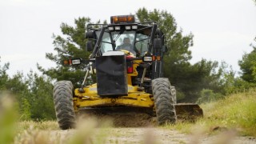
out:
M21 120L54 119L53 85L50 78L38 76L32 71L28 75L17 72L11 78L6 73L9 63L0 65L0 94L6 91L18 102Z

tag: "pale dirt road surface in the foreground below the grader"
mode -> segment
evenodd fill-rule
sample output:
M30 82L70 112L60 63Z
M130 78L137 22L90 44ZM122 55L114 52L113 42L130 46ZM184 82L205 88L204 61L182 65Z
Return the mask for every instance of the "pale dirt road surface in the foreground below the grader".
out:
M88 138L88 134L91 134L92 137ZM52 131L51 135L61 136L63 143L66 143L69 138L79 139L79 137L85 143L256 143L255 138L236 137L232 131L226 131L215 136L190 135L181 134L177 130L166 130L158 127L94 128L92 131L85 130L83 132L79 130L55 130Z

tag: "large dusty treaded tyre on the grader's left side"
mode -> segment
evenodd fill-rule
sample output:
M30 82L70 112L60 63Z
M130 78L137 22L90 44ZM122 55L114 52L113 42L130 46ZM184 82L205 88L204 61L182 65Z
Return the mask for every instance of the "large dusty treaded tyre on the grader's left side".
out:
M70 81L54 84L54 108L60 129L74 128L75 113L73 102L73 85Z

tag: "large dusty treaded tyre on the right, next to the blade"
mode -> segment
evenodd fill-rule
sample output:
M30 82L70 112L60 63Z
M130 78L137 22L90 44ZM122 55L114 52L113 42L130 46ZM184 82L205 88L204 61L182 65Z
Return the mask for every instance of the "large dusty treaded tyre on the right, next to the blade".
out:
M170 86L168 78L156 78L152 81L154 95L154 108L158 125L176 122L174 104L176 103L176 90Z

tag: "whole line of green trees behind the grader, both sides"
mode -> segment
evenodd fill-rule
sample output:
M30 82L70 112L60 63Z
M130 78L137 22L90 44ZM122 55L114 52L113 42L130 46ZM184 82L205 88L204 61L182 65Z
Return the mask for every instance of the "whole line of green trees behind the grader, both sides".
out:
M178 29L175 18L166 10L136 11L138 22L158 22L169 48L164 55L164 74L176 87L178 102L209 102L224 98L227 94L241 92L255 86L256 82L256 47L249 54L244 54L238 61L242 73L235 77L235 72L226 62L208 61L202 58L194 64L192 58L193 34L183 34ZM80 86L85 71L83 66L64 66L63 60L69 58L88 58L85 38L86 25L90 18L75 18L75 26L62 23L61 35L53 35L54 50L57 54L46 53L46 58L56 63L55 67L46 69L38 65L42 74L33 71L30 74L18 72L10 77L7 74L10 64L0 61L0 90L13 94L19 105L22 119L54 119L52 98L53 83L70 80L74 86ZM104 22L106 23L106 22ZM256 39L255 39L256 41Z

